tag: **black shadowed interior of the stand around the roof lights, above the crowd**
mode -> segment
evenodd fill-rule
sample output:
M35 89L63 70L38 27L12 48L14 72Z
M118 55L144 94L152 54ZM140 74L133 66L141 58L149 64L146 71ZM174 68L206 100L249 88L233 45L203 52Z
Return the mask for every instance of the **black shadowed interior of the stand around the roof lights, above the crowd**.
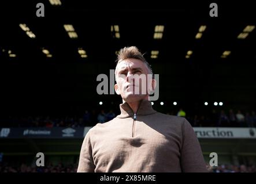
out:
M204 11L186 11L182 6L174 6L174 10L87 10L80 1L66 1L60 7L47 1L44 4L45 17L36 17L36 2L29 1L13 5L12 11L4 14L1 104L9 113L62 113L71 107L79 112L92 106L99 108L98 101L103 101L103 106L115 102L116 108L121 98L98 95L96 78L98 74L109 75L115 67L115 52L128 45L146 53L154 74L159 74L159 101L169 108L172 101L187 109L204 108L204 101L223 101L225 108L239 105L244 110L255 109L255 31L247 39L236 39L247 24L255 24L255 11L248 10L246 16L233 10L235 14L213 19L200 17ZM232 10L232 6L226 8ZM35 39L20 29L21 23L31 27ZM64 24L74 26L78 39L68 37ZM120 26L120 39L111 36L110 26L116 24ZM161 40L153 39L157 24L165 25ZM200 25L207 28L202 39L196 40ZM53 57L46 57L42 47ZM86 50L87 58L79 56L79 47ZM2 49L11 49L17 57L8 57ZM159 51L157 59L150 58L151 50ZM188 50L193 51L190 59L185 58ZM225 50L232 53L223 59L220 56ZM155 108L164 111L166 106Z

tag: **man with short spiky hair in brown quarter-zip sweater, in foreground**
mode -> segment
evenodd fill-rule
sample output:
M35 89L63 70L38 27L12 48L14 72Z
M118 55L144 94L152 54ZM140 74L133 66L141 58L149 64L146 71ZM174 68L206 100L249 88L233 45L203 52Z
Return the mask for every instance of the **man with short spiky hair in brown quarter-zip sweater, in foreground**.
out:
M153 110L149 93L133 82L135 74L153 74L138 48L121 49L115 74L121 114L88 131L77 172L206 172L190 123ZM154 79L148 82L152 89L157 85Z

